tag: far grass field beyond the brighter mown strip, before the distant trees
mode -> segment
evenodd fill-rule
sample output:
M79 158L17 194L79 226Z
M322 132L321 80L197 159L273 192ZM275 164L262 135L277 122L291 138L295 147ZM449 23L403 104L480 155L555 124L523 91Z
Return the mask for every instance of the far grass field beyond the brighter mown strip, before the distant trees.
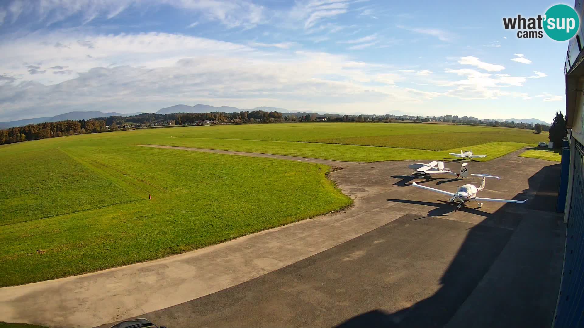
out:
M301 141L443 151L488 142L537 144L547 134L516 128L413 123L288 123L155 129L151 135L174 138L219 138Z

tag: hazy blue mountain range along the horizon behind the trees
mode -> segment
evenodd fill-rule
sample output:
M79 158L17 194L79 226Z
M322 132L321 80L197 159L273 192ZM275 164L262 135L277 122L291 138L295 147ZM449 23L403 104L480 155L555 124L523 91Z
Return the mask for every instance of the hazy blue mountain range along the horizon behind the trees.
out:
M263 111L279 111L284 115L295 115L295 116L305 116L307 114L319 114L319 113L312 113L312 112L290 112L287 109L278 108L278 107L255 107L254 109L239 109L237 107L230 107L230 106L221 106L215 107L206 104L196 104L194 106L189 106L185 104L178 104L171 107L161 108L157 111L158 114L172 114L172 113L212 113L214 111L221 111L223 113L234 113L238 111L252 111L252 110L263 110ZM9 121L9 122L0 122L0 129L11 128L11 127L20 127L27 124L37 124L43 122L56 122L56 121L64 121L64 120L89 120L90 118L96 117L110 117L110 116L133 116L137 114L142 114L143 112L137 113L128 113L128 114L121 114L121 113L103 113L102 111L71 111L69 113L59 114L57 116L46 116L46 117L38 117L38 118L29 118L26 120L18 120L18 121ZM400 112L401 113L401 112ZM395 114L395 113L394 113ZM537 118L509 118L508 120L504 120L507 122L515 121L515 123L531 123L531 124L545 124L551 125L545 121L538 120Z

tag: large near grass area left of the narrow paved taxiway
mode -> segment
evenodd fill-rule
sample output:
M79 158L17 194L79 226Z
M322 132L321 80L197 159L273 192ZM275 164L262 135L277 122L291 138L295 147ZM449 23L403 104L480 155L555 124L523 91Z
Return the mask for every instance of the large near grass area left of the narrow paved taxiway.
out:
M11 173L0 176L10 188L0 286L157 259L351 203L324 165L146 148L126 143L132 133L0 149Z

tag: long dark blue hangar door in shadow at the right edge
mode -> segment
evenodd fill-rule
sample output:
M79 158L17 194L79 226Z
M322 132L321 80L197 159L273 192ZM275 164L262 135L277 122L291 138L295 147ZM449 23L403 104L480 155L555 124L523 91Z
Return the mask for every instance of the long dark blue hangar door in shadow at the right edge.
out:
M584 327L584 147L574 140L574 174L568 213L564 272L554 327Z

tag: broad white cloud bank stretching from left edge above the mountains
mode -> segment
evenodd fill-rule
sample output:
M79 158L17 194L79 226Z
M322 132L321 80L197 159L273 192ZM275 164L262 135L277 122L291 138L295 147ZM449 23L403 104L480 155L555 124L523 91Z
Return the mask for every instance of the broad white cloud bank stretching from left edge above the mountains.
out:
M67 47L55 47L57 42ZM266 53L179 34L30 34L0 43L0 54L0 120L197 102L252 107L284 102L303 108L404 104L439 95L394 85L403 77L380 75L391 71L388 65L309 51ZM31 75L29 69L46 72Z

